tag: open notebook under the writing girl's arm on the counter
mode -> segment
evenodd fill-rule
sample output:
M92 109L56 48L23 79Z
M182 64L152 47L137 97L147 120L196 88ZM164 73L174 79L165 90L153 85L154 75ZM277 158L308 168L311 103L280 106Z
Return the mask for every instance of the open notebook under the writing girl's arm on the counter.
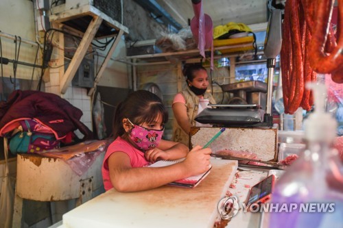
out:
M175 164L176 161L158 161L155 162L154 164L151 164L149 167L163 167L163 166L170 166L172 164ZM209 175L211 171L212 166L207 170L206 172L192 176L192 177L187 177L185 179L180 179L178 181L173 181L171 183L168 183L167 185L169 186L178 186L178 187L184 187L184 188L194 188L198 186L198 184L207 176Z

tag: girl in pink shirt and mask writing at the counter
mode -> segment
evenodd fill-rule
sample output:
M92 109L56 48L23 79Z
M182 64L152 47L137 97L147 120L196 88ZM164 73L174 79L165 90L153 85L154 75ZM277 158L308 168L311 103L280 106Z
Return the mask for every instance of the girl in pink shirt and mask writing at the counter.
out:
M168 112L152 92L138 90L117 106L113 121L115 140L108 146L102 165L105 190L134 192L163 186L171 181L204 173L211 149L163 140ZM185 160L171 166L147 167L157 160Z

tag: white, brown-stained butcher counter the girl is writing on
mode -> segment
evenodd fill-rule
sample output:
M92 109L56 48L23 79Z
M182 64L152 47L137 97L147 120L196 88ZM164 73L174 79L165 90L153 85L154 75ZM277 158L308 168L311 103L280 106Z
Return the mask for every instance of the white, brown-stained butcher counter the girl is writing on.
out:
M53 227L261 227L261 214L243 212L223 220L218 204L235 195L246 200L249 189L268 170L238 168L235 160L211 159L211 173L196 188L162 186L141 192L109 190L63 215Z

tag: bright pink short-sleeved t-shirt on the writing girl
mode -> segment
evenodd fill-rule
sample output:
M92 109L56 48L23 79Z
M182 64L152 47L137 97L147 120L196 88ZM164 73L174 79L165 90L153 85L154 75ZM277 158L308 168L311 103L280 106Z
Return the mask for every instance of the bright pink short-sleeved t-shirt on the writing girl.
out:
M149 164L149 162L145 160L144 153L142 151L139 151L129 142L118 137L108 146L104 162L102 163L102 180L106 191L113 188L113 185L110 182L110 171L108 170L108 157L118 151L126 153L130 157L132 168L143 167Z

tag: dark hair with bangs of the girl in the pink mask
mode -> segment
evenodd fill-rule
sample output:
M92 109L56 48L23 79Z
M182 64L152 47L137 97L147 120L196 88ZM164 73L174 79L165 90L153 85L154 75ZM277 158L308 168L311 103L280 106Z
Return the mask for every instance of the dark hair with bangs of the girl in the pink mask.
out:
M161 99L147 90L137 90L119 103L113 119L113 138L122 136L126 131L123 129L123 118L129 118L135 125L152 123L158 114L162 117L162 123L168 121L168 111Z

